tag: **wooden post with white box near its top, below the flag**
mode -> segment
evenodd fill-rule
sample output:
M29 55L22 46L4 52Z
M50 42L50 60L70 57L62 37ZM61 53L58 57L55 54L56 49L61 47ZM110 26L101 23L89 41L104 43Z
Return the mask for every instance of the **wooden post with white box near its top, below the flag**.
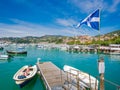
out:
M100 60L98 60L98 69L100 75L100 90L104 90L105 63L103 58L100 58Z

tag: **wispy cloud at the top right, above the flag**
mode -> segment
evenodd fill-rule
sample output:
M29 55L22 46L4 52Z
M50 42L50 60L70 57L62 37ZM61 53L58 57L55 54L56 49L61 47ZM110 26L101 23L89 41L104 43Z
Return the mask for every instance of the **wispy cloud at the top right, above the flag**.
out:
M82 13L90 13L97 8L113 13L117 11L120 0L113 0L112 3L105 0L71 0L71 3L78 7Z

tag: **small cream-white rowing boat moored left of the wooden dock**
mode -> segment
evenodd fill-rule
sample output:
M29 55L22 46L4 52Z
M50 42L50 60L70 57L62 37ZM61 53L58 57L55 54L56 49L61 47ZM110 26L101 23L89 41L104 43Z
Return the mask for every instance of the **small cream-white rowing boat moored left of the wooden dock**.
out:
M13 76L13 79L15 80L15 83L17 85L23 86L26 84L26 82L30 81L37 73L37 66L28 66L25 65L22 68L20 68L15 75Z

